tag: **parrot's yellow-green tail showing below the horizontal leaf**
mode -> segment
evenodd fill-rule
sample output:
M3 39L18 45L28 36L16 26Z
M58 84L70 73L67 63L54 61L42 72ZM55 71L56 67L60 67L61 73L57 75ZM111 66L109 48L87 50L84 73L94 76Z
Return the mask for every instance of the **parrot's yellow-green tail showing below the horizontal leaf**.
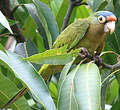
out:
M48 80L50 76L54 75L57 72L61 72L64 65L50 65L50 64L44 64L39 74L43 77L44 80Z

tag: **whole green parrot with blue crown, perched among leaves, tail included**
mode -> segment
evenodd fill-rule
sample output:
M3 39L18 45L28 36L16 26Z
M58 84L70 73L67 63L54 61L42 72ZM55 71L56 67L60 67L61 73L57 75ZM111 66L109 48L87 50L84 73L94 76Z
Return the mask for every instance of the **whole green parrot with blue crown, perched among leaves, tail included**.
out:
M57 37L53 49L67 45L68 52L84 47L92 55L99 55L105 45L107 33L115 30L116 16L109 11L98 11L85 19L78 19L70 24ZM75 62L80 62L77 58ZM47 80L51 75L60 72L64 65L44 64L39 73Z

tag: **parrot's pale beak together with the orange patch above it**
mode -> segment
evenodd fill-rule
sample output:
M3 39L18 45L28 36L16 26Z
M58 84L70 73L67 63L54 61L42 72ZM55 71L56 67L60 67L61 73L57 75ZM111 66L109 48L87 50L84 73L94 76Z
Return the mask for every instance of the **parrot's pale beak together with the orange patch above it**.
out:
M104 32L112 34L115 31L116 16L107 16L107 23L104 26Z

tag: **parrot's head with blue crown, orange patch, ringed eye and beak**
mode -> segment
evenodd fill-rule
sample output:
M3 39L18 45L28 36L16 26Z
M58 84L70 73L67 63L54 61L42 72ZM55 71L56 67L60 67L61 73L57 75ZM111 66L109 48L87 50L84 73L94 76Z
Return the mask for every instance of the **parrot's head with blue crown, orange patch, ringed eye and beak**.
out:
M98 11L94 14L96 22L104 25L104 32L112 34L115 31L117 17L109 11Z

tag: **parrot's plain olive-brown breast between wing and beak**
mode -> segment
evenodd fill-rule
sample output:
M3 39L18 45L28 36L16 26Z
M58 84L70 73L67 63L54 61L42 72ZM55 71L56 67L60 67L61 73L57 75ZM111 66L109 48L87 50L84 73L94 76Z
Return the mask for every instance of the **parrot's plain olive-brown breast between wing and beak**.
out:
M102 42L105 41L106 33L104 25L90 25L85 36L79 41L75 48L85 47L91 54L97 50Z

